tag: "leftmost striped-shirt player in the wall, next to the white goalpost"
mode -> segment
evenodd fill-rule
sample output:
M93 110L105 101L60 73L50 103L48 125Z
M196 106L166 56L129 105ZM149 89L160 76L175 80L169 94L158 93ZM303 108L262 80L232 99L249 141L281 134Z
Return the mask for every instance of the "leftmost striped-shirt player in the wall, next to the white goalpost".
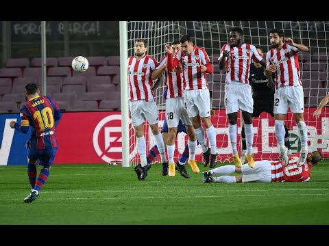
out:
M138 180L145 180L148 166L146 159L146 141L144 136L144 123L147 120L152 134L156 140L156 146L161 156L162 163L167 163L164 142L158 126L158 107L154 101L152 87L154 85L151 75L158 66L153 57L147 55L147 41L138 39L134 46L135 55L127 59L128 64L128 86L129 86L129 108L134 126L137 150L141 157L141 176ZM138 165L139 166L139 165ZM136 171L135 167L135 171Z

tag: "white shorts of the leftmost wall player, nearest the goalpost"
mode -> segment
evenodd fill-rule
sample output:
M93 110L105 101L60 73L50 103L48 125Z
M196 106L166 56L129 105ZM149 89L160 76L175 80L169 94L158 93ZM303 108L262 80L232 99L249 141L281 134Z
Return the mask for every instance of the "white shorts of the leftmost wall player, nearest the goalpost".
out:
M145 120L150 125L159 122L158 107L156 102L147 102L143 100L129 101L130 116L132 118L132 126L139 126Z

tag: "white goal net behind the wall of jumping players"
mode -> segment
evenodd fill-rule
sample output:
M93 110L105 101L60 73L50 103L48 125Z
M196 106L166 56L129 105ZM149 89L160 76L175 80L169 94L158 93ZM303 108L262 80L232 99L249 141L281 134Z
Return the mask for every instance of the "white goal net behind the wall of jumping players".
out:
M300 53L300 75L304 87L304 119L308 126L308 150L321 150L325 157L329 157L329 107L322 110L319 119L313 117L317 105L328 94L328 46L329 22L306 21L131 21L127 22L127 49L128 56L134 55L134 42L138 38L145 38L148 43L148 55L157 61L167 55L165 44L180 40L181 36L192 36L196 46L206 49L214 74L207 74L210 94L212 96L212 124L217 129L217 161L231 161L232 150L228 138L228 118L224 107L225 71L219 70L218 57L221 47L228 42L228 33L232 27L243 29L243 41L255 46L262 46L264 54L270 49L269 29L275 27L284 31L285 37L291 37L296 43L308 46L309 53ZM164 120L165 100L162 84L154 96L159 111L159 126ZM238 113L238 150L241 153L241 113ZM289 129L292 152L300 151L297 126L293 114L287 114L285 124ZM254 122L254 159L278 159L277 141L274 131L274 120L268 113L261 113ZM149 125L145 124L145 139L147 153L154 146L154 137ZM124 130L123 130L124 131ZM130 165L140 163L136 148L134 129L130 123ZM187 136L178 134L176 139L175 161L184 151ZM202 161L202 148L198 146L197 161ZM158 159L160 162L160 159Z

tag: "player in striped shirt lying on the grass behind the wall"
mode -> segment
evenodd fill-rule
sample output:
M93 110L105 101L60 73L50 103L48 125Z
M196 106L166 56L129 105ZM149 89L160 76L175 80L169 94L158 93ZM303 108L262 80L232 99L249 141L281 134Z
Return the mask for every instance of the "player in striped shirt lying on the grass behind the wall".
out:
M313 151L307 155L306 162L302 166L297 163L300 153L289 156L289 165L283 161L255 161L255 167L250 168L247 164L242 167L225 165L203 172L204 182L306 182L310 180L310 169L322 161L322 154ZM228 176L229 174L242 174ZM213 175L221 175L213 177Z

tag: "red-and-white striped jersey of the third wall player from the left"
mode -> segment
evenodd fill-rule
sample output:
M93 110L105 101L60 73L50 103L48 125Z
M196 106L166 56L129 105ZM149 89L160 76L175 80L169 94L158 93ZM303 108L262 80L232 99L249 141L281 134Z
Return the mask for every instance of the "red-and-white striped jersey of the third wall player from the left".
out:
M206 72L201 72L199 65L211 66L210 59L206 51L197 46L189 55L184 55L182 50L178 51L176 58L182 65L183 74L183 89L184 90L199 90L208 88Z

